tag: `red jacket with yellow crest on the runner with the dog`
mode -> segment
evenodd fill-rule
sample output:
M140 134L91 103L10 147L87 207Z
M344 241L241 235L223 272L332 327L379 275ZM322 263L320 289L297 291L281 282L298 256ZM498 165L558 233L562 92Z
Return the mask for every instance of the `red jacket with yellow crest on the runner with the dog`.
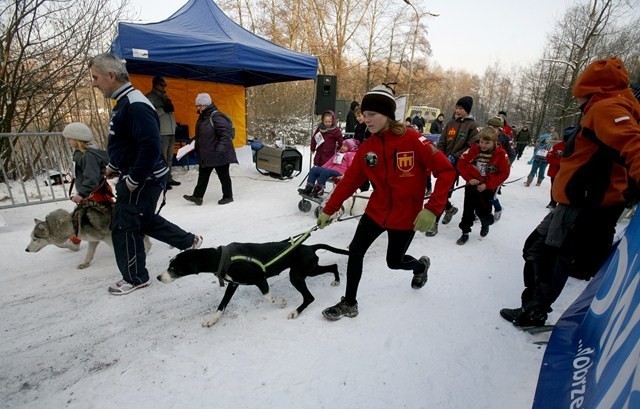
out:
M370 166L373 156L377 164ZM427 170L433 172L436 183L424 203ZM395 135L386 130L360 145L322 211L334 214L369 179L375 189L365 213L386 229L413 230L413 222L423 208L436 215L442 213L455 177L447 157L417 131L407 129L403 135Z

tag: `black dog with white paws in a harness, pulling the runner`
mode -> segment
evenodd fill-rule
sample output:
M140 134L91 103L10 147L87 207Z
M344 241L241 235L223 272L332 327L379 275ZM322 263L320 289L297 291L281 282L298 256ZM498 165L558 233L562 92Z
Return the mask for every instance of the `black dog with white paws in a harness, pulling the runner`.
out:
M333 273L335 281L331 285L340 284L336 264L318 265L316 251L320 249L337 254L349 254L347 250L326 244L292 246L289 241L261 244L231 243L218 248L183 251L171 260L169 268L158 276L158 280L170 283L190 274L215 273L220 286L224 286L225 282L228 283L229 287L222 297L218 310L202 323L203 327L210 327L220 319L238 285L256 285L268 302L284 307L286 301L283 298L274 297L269 291L267 278L289 268L289 280L302 294L302 304L288 316L297 318L314 300L305 283L307 277Z

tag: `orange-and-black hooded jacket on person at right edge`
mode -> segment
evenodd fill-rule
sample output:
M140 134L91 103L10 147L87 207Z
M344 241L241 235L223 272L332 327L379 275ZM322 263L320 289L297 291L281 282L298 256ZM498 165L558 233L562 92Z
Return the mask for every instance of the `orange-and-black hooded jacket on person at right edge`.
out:
M596 61L578 77L573 95L588 102L575 143L567 142L560 161L553 198L578 206L621 205L627 177L640 182L640 104L629 88L629 74L618 58ZM589 133L620 152L626 166L612 163Z

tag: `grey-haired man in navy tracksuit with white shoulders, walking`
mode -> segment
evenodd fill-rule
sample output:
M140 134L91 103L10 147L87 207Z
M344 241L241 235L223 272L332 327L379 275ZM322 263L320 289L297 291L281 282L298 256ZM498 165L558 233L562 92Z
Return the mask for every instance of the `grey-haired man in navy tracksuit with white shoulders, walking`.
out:
M198 248L202 237L182 230L156 214L169 169L162 156L158 114L129 82L125 65L112 54L89 62L92 85L116 101L109 121L107 176L119 174L111 237L122 280L109 287L113 295L148 286L144 236L180 250Z

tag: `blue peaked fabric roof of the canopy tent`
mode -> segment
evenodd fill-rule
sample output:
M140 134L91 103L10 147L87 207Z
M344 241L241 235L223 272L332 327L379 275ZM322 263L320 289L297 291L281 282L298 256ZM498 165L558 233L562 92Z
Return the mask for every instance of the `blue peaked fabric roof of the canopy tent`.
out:
M111 51L132 74L253 85L316 78L318 59L245 30L212 0L189 0L168 19L119 23Z

